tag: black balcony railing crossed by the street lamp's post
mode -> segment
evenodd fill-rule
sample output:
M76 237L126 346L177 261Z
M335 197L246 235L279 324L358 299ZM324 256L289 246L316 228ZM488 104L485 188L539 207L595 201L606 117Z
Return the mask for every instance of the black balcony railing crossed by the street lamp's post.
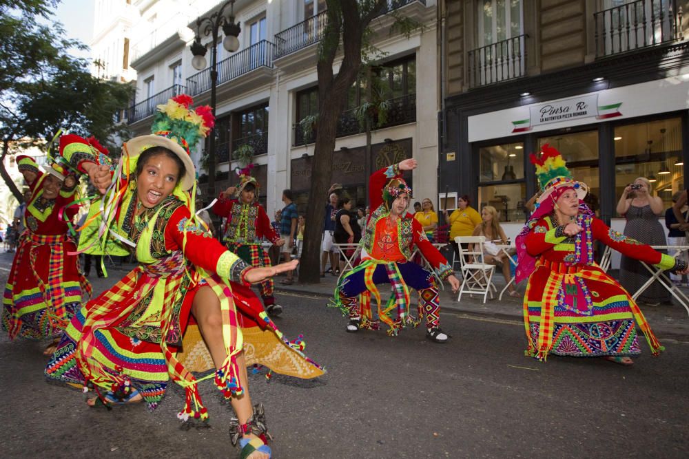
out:
M218 62L218 85L227 83L238 76L247 74L259 67L273 67L275 45L267 40L247 47L245 50L233 54ZM187 78L187 88L190 96L196 96L211 89L210 67Z

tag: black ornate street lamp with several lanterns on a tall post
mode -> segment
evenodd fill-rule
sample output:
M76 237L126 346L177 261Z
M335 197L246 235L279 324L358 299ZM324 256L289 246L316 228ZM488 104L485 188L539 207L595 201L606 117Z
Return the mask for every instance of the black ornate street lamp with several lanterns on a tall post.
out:
M239 32L241 28L239 24L234 23L234 1L228 0L223 3L223 6L208 17L200 17L196 19L196 36L194 36L194 43L192 43L191 51L194 54L192 58L192 67L196 70L203 70L206 67L206 47L201 43L201 36L212 36L211 47L211 109L213 116L215 116L216 109L216 85L218 83L218 36L220 34L220 26L223 27L225 39L223 40L223 47L229 52L235 52L239 49ZM223 14L225 8L230 6L229 18ZM208 194L212 198L215 195L215 134L211 134L208 138Z

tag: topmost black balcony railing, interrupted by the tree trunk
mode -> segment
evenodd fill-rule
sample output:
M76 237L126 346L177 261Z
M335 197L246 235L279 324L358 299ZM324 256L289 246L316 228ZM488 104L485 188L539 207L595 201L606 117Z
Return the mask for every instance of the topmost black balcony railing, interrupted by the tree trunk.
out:
M392 10L402 8L402 6L410 3L421 3L426 5L426 0L389 0L384 5L378 16L387 14ZM275 58L287 56L287 54L301 50L313 43L318 43L323 38L325 33L325 26L328 23L327 11L322 11L309 19L293 25L289 29L282 30L282 32L275 35L276 52Z

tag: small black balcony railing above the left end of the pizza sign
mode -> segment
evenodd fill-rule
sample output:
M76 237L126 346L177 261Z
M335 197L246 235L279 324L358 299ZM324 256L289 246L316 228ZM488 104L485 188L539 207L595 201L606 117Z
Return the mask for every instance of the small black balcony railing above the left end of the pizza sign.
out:
M478 87L526 74L526 35L469 51L469 86Z

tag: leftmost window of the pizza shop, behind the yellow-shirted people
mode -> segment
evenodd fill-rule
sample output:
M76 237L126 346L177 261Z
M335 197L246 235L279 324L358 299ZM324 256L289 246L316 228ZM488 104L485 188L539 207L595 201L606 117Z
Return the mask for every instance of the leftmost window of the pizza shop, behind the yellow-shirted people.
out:
M491 145L478 150L479 191L478 206L493 206L502 222L523 222L524 202L524 144Z

